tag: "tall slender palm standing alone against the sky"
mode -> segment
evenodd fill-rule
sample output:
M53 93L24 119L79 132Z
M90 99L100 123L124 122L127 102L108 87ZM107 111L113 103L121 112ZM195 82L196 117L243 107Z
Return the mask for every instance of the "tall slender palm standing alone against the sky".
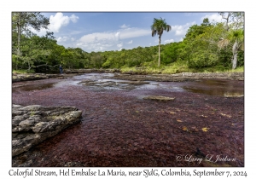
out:
M169 32L171 31L172 27L166 24L166 20L163 20L161 17L160 19L154 18L153 25L151 26L152 30L152 37L155 36L155 34L158 35L159 38L159 58L158 58L158 66L160 66L160 43L161 43L161 36L163 35L163 32Z

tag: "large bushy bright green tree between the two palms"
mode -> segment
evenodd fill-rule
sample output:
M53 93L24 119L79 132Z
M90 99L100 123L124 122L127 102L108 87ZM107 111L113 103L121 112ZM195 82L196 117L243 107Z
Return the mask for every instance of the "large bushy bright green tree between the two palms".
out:
M218 39L224 33L222 24L191 26L184 38L183 59L190 68L216 66L219 61Z

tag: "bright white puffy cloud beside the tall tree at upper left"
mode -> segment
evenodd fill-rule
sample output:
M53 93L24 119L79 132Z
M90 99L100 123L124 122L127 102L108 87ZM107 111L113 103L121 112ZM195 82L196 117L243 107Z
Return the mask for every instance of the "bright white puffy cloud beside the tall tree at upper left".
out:
M63 15L62 13L56 13L49 17L49 32L59 32L62 26L67 26L71 21L76 23L79 17L72 14L70 17Z

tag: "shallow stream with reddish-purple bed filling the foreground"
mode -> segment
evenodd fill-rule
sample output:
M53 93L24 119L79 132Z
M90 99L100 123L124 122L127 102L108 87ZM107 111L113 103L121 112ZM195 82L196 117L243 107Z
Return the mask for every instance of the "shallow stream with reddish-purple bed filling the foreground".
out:
M159 77L153 75L146 83L140 83L143 75L124 75L129 80L118 75L86 73L13 83L13 104L73 106L82 118L14 156L12 165L244 166L243 75L183 82L153 80ZM208 154L213 162L185 160ZM216 161L218 156L230 161Z

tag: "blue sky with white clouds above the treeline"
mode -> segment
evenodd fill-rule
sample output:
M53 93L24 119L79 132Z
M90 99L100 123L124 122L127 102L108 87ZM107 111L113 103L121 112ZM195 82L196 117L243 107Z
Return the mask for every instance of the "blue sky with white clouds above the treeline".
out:
M84 51L108 51L133 49L158 44L157 37L151 37L150 26L154 18L163 18L172 26L171 32L164 32L161 43L181 41L189 26L201 24L204 18L221 21L215 13L42 13L49 17L49 32L54 32L57 43L65 47L79 47ZM41 31L38 35L44 35Z

